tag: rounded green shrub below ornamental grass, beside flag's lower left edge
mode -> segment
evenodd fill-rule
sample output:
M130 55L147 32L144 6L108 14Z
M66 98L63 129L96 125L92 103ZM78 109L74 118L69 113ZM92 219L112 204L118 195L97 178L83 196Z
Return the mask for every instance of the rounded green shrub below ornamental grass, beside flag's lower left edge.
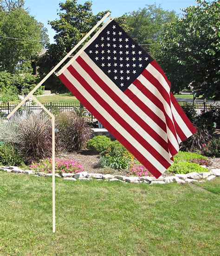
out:
M95 136L89 140L86 144L86 147L101 153L106 151L110 147L111 140L106 136Z

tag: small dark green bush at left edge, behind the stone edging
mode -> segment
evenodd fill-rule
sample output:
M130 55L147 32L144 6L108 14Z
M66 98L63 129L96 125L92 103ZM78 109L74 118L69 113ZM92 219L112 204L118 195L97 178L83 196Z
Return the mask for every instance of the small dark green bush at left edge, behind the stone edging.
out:
M2 165L19 166L24 164L24 159L19 150L13 144L0 145L0 163Z

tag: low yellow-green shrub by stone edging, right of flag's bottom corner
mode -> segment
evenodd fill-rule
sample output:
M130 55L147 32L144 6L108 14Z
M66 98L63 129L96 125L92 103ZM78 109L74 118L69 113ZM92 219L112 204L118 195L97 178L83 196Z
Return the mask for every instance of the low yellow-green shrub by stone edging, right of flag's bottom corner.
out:
M174 174L187 174L190 172L208 172L206 168L201 167L197 163L189 163L189 162L178 162L171 165L168 172L172 172Z

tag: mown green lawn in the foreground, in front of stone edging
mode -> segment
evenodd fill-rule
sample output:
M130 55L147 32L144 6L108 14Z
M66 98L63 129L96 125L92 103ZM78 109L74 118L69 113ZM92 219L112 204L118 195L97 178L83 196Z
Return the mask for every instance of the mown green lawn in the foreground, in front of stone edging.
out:
M148 186L0 173L0 255L219 255L220 178Z

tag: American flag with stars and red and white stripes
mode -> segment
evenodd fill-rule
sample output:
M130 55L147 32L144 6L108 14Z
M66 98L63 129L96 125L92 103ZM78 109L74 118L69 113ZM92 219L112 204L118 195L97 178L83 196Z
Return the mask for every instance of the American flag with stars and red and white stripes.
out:
M111 20L58 77L156 178L196 129L162 68Z

